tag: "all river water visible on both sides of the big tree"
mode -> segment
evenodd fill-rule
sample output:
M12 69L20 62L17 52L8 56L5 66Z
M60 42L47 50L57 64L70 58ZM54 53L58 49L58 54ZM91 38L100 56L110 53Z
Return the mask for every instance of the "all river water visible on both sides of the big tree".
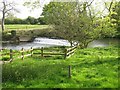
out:
M89 43L88 48L94 47L107 47L110 45L119 45L120 40L115 38L107 38L107 39L99 39L94 40ZM21 42L19 44L4 44L3 48L20 50L33 48L41 48L41 47L51 47L51 46L70 46L70 43L67 40L63 39L49 39L49 38L35 38L33 42Z

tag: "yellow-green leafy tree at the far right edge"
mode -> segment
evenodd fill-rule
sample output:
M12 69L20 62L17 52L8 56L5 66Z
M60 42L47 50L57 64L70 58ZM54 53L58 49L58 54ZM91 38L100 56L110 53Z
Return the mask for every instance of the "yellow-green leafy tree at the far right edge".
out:
M119 33L119 20L120 20L120 2L116 2L116 0L112 0L111 2L104 2L105 3L105 8L108 10L108 15L105 17L107 21L107 24L109 29L112 29L114 35L109 35L109 37L115 37L117 34L118 36L120 35ZM105 19L104 18L104 19ZM105 21L105 20L104 20ZM107 28L107 29L108 29Z

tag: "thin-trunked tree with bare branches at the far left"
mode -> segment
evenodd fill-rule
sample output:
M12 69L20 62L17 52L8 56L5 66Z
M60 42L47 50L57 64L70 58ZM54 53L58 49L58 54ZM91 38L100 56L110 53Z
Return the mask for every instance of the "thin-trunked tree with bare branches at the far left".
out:
M10 11L12 11L12 10L17 11L17 9L15 9L15 3L14 2L8 2L7 0L3 0L1 3L2 3L2 7L0 8L0 11L2 12L1 27L2 27L2 31L4 31L4 23L5 23L6 14L9 13Z

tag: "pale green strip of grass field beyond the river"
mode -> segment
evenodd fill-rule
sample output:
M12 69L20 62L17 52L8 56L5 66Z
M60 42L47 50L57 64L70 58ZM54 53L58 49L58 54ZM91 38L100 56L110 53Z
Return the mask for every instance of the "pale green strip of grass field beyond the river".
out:
M14 25L5 25L5 30L32 30L32 29L45 29L48 28L48 25L22 25L22 24L14 24Z

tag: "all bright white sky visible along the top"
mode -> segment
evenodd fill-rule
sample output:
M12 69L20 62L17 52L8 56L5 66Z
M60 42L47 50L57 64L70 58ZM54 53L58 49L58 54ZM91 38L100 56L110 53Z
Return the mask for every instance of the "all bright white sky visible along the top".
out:
M45 4L48 4L51 0L40 0L40 7L34 10L31 10L26 7L23 6L23 3L25 1L29 1L29 0L7 0L7 1L14 1L16 3L16 8L20 11L19 13L15 13L15 16L18 18L27 18L28 16L32 16L35 18L38 18L41 13L42 13L42 8ZM31 0L32 1L36 1L36 0ZM76 0L53 0L54 2L69 2L69 1L76 1ZM81 0L81 1L90 1L90 0ZM104 7L102 6L102 1L111 1L111 0L94 0L94 6L97 6L98 9L103 9ZM119 0L117 0L119 1ZM2 2L2 0L0 0L0 3ZM98 3L98 4L96 4ZM97 9L97 8L96 8ZM2 14L0 13L0 17L2 16Z

